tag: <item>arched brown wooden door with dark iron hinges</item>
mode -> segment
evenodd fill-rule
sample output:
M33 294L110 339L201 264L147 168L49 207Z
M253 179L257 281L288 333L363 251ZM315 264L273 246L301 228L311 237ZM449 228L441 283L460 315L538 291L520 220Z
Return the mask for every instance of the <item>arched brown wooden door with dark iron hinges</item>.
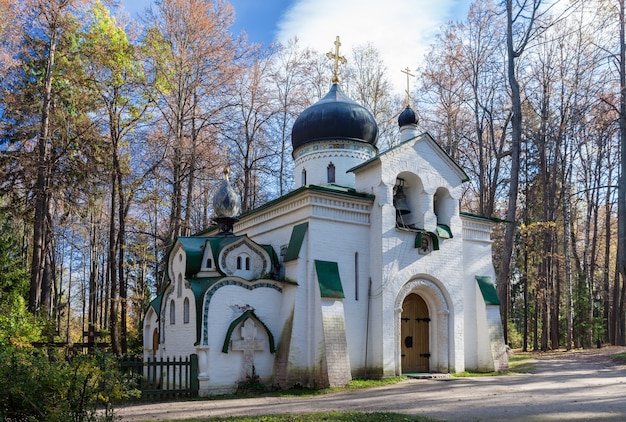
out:
M429 322L424 299L414 293L408 295L402 304L400 319L402 373L429 372Z

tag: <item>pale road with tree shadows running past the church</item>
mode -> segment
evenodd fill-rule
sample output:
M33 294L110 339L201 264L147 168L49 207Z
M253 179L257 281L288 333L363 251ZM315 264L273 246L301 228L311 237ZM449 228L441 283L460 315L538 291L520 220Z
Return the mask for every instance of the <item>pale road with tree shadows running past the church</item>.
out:
M407 380L316 397L177 401L116 409L124 421L336 410L393 411L446 421L626 421L626 347L549 355L532 374Z

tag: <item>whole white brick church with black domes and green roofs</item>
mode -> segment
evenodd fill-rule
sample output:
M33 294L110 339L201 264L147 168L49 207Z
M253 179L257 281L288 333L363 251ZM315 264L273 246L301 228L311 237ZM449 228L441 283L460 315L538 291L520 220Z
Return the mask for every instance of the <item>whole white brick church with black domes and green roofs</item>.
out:
M216 227L169 253L144 356L197 354L201 395L253 373L289 388L508 366L494 223L460 212L467 175L408 106L399 145L378 153L374 117L337 75L335 60L293 126L296 189L238 215L225 177Z

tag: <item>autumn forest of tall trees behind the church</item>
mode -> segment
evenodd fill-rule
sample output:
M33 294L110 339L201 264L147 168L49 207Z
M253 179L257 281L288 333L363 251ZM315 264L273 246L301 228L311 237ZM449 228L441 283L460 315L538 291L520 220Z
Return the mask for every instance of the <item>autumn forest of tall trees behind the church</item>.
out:
M331 64L297 39L248 43L223 0L111 10L0 0L0 328L28 309L45 340L97 332L123 354L225 166L244 212L292 188L291 126ZM342 88L385 151L407 96L371 44L346 55ZM461 209L503 221L513 347L626 343L625 58L624 0L477 0L411 69L420 130L470 177Z

